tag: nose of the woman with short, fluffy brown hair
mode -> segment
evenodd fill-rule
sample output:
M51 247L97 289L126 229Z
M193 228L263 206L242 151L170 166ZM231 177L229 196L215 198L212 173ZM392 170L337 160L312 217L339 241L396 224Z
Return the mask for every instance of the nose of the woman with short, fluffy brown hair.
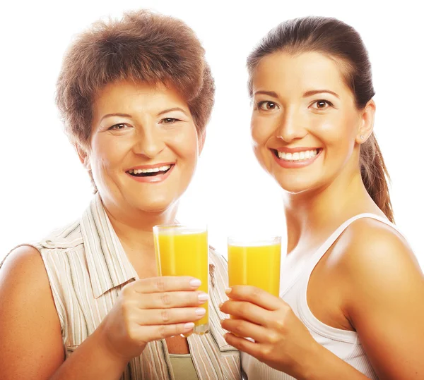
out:
M133 152L141 154L149 159L153 159L165 148L163 134L158 130L155 123L144 123L143 128L139 128L134 141Z

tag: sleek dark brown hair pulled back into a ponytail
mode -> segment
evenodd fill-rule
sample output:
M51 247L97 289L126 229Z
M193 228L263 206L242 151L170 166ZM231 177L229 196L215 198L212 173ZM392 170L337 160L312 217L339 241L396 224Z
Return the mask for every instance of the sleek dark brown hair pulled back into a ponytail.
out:
M340 20L311 16L288 20L274 27L247 59L251 97L255 68L264 56L278 51L289 54L317 51L337 59L358 109L363 109L375 94L370 59L363 40L353 27ZM388 186L389 173L374 133L360 147L359 164L368 194L387 218L394 221Z

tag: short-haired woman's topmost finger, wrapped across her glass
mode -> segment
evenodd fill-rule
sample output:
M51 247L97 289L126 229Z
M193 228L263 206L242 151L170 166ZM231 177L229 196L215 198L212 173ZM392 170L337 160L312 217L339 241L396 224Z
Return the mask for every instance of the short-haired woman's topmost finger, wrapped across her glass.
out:
M161 276L143 278L130 285L136 293L161 293L196 290L201 286L201 281L188 276Z

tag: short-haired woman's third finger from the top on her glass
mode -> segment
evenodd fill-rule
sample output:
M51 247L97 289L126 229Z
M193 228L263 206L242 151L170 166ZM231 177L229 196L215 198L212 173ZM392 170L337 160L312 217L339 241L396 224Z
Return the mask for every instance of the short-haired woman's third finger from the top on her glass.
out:
M136 309L134 319L137 324L161 325L198 321L206 314L204 307L177 307L173 309Z

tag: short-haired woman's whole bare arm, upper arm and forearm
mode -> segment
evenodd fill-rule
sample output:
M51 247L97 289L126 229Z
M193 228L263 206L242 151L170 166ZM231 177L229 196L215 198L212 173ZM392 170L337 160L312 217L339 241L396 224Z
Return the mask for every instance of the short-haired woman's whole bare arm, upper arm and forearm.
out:
M119 379L126 362L93 333L64 363L61 327L45 266L33 247L19 247L0 270L0 368L8 379ZM59 369L59 370L58 370Z

